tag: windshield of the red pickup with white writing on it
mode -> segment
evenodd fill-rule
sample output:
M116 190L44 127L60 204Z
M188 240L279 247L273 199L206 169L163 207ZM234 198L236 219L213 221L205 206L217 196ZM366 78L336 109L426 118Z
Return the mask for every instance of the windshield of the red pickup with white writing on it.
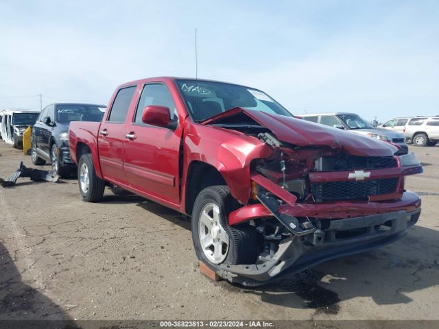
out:
M261 90L199 80L176 80L176 83L195 122L237 107L293 117Z

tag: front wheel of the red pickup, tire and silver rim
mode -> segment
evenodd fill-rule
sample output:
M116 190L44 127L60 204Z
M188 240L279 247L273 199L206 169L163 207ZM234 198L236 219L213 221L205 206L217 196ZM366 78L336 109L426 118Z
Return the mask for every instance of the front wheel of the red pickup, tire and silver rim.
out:
M257 232L244 223L228 226L228 214L237 208L227 186L204 188L195 199L192 240L198 259L214 271L219 264L254 264L258 255Z

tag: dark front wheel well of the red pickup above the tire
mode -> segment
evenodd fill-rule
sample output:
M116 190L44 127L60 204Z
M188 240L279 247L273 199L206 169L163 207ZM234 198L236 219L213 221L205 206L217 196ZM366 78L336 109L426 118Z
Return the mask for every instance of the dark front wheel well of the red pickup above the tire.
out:
M226 181L215 167L200 161L191 162L186 182L185 209L187 215L192 214L195 199L204 188L213 185L226 185Z

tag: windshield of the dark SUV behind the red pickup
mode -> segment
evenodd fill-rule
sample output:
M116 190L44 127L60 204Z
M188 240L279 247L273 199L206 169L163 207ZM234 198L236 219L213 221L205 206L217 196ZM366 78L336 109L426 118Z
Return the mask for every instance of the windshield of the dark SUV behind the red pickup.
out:
M101 121L105 108L93 105L62 105L56 108L56 121Z

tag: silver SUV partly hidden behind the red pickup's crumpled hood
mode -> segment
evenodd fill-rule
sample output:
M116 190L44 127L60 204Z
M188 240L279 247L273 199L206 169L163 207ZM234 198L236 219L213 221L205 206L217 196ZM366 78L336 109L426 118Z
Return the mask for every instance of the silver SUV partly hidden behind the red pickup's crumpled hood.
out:
M399 149L396 151L396 155L407 154L409 150L403 134L390 132L389 130L380 127L374 127L355 113L299 114L299 116L306 121L329 125L329 127L348 130L355 134L376 138L386 143L398 145Z

